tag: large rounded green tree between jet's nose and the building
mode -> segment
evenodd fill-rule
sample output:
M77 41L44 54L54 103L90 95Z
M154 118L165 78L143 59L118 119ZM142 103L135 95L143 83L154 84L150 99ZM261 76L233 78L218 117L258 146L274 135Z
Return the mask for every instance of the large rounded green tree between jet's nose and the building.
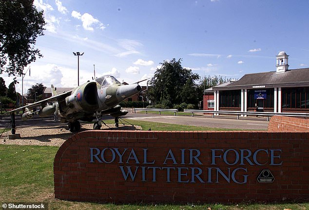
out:
M148 94L156 103L164 107L172 107L182 102L195 103L190 97L195 90L195 80L199 79L190 69L181 66L181 59L173 58L171 61L164 61L162 67L157 69L151 79ZM190 87L191 86L191 87ZM188 97L189 96L189 97Z

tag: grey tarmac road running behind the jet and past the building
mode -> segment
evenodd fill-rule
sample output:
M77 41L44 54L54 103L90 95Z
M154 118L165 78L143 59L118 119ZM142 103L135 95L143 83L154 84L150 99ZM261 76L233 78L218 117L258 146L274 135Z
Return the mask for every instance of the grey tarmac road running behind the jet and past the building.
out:
M111 116L106 116L104 119L112 119ZM150 122L162 122L162 123L172 123L181 125L193 125L202 126L210 128L227 128L227 129L249 129L249 130L267 130L268 121L263 117L240 117L237 120L236 116L216 116L212 118L211 115L191 115L181 116L181 115L158 115L158 114L139 114L132 113L132 110L123 117L124 119L133 119L139 121L150 121ZM0 128L5 128L10 121L10 117L2 117L0 119ZM16 116L16 126L34 126L34 125L55 125L58 124L54 122L52 118L36 118L27 121L20 120L19 116Z

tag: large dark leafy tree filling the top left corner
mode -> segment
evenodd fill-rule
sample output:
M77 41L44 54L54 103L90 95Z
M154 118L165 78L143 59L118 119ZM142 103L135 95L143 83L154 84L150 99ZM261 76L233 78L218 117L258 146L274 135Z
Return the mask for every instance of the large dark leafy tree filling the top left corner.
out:
M42 57L36 39L42 36L45 20L34 0L0 1L0 74L22 75L25 66Z

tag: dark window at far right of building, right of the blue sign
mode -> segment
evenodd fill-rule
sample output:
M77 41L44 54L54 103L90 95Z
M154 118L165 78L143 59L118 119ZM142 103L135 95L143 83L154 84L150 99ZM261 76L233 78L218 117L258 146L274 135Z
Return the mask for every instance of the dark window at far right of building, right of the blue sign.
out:
M282 88L282 108L309 109L309 88Z

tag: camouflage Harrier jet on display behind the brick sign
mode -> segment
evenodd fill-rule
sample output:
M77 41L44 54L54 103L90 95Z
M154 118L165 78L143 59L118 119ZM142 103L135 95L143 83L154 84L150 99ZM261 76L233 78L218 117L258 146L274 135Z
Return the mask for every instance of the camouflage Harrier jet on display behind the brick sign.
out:
M56 88L52 85L52 96L50 98L20 107L9 113L24 110L21 118L27 120L31 119L36 113L29 111L29 108L41 106L42 109L38 111L39 116L54 115L55 121L68 122L71 132L79 131L80 123L78 120L91 122L96 119L94 129L101 129L101 117L103 115L115 117L115 125L118 127L118 117L128 113L127 110L121 109L118 104L140 91L141 86L138 85L138 82L123 85L114 76L105 75L61 94L57 94Z

